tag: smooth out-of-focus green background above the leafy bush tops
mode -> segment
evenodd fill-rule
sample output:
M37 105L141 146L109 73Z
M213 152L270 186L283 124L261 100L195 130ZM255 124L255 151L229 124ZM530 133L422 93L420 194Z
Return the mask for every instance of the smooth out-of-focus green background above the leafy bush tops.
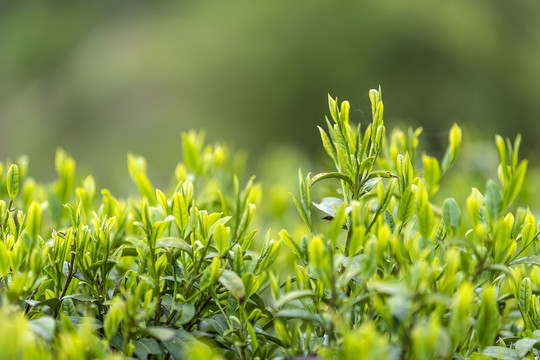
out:
M423 126L434 155L457 122L476 165L495 164L478 143L496 133L521 132L534 162L539 23L537 0L1 2L0 157L47 181L60 146L115 188L132 151L159 187L195 128L252 172L300 166L322 154L327 94L367 124L380 84L387 127Z

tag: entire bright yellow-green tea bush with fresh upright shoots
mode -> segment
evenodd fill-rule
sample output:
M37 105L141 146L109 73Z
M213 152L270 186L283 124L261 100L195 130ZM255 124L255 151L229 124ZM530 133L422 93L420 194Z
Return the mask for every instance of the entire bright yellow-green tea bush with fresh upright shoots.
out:
M77 180L62 150L52 184L25 157L0 164L0 357L539 356L538 225L512 207L520 137L496 137L499 182L435 202L461 129L442 159L420 154L422 130L387 134L380 89L369 97L364 129L329 97L332 168L299 173L305 226L278 238L254 229L261 185L242 180L243 156L201 133L182 135L168 191L129 154L139 194L126 199Z

